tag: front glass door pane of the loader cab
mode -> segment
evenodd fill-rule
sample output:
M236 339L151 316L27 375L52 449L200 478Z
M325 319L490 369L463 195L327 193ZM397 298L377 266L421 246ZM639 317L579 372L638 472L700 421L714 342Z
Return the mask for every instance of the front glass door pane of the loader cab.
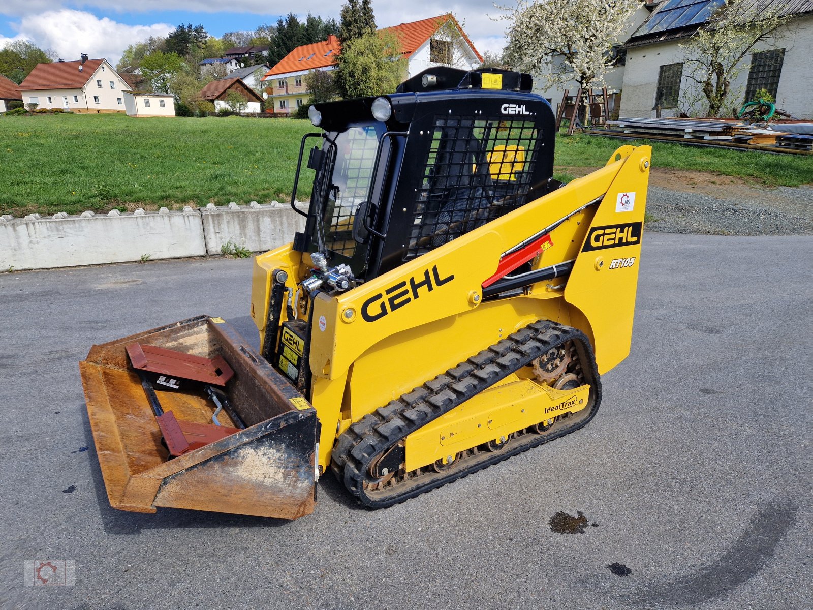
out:
M367 200L376 159L378 137L372 127L352 127L336 138L336 165L333 168L328 207L324 214L326 246L351 258L353 216L359 204Z

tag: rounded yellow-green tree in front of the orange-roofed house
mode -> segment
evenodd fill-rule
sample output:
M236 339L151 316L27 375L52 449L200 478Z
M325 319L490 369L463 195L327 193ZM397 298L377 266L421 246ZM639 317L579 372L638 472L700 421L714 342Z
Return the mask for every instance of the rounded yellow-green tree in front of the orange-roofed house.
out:
M341 73L344 98L393 93L406 71L406 59L392 34L372 32L346 41L340 57L334 82Z

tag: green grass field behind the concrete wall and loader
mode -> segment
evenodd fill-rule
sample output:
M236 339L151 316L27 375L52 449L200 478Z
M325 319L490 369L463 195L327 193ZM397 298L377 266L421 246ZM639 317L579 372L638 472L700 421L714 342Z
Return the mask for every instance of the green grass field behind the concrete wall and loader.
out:
M0 213L287 201L300 139L313 130L289 119L0 115ZM623 143L559 137L556 165L598 167ZM813 182L813 159L804 156L654 143L653 164L765 185Z

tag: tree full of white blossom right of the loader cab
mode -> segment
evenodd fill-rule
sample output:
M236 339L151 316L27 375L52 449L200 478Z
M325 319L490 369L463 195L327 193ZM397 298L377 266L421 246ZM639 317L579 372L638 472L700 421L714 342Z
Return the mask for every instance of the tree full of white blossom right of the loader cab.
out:
M641 0L520 0L502 7L511 21L506 59L512 68L540 74L546 87L603 85L615 60L610 50L640 6Z

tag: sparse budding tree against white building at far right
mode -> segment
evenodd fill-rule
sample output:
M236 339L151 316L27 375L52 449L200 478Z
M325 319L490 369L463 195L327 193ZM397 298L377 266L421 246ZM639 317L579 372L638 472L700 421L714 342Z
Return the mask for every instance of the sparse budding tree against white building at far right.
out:
M781 2L725 0L681 45L686 57L684 76L697 83L707 115L719 116L728 107L729 97L737 93L731 89L732 81L750 68L743 59L761 44L776 41L776 30L788 20L782 15ZM692 89L685 90L685 96L692 94Z

